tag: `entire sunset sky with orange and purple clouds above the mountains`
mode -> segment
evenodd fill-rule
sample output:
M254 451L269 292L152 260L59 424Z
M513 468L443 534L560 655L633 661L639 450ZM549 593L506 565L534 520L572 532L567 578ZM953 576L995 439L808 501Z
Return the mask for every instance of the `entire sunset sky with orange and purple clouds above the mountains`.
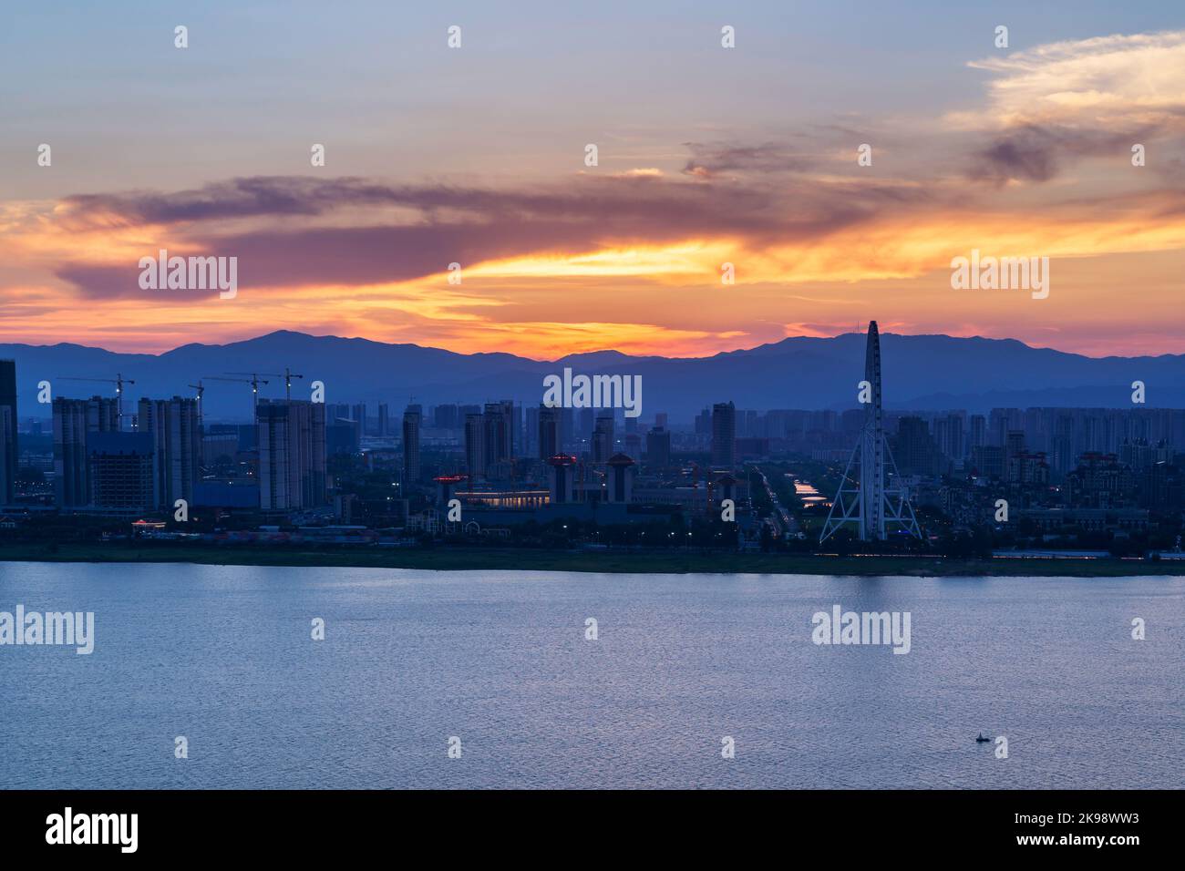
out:
M410 6L6 6L0 342L1185 353L1179 0ZM237 296L140 289L161 248ZM1048 256L1049 299L952 289L972 249Z

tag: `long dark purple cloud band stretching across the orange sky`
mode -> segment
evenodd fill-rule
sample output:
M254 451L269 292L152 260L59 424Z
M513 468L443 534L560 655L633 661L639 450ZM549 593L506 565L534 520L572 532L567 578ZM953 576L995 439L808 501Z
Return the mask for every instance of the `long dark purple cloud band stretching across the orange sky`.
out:
M729 150L760 167L761 148ZM841 196L838 196L841 194ZM178 193L72 197L70 220L96 229L161 224L143 256L238 258L243 290L258 286L366 284L444 274L451 262L531 254L595 251L687 238L743 238L756 248L822 238L901 212L930 194L875 180L837 192L807 180L774 188L757 180L691 182L581 175L563 186L488 190L442 184L389 185L358 178L242 178ZM398 214L384 206L401 206ZM332 226L318 218L332 214ZM228 222L239 219L228 228ZM342 225L348 220L351 225ZM139 258L137 258L139 260ZM141 290L136 262L126 268L65 263L57 275L91 297L172 296Z

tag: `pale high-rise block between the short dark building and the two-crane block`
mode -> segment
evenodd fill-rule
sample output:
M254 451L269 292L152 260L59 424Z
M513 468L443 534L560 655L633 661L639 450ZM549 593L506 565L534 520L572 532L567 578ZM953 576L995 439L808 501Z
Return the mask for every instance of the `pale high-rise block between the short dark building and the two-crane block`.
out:
M136 425L152 436L155 507L172 510L178 499L193 502L201 479L201 418L197 399L141 399Z

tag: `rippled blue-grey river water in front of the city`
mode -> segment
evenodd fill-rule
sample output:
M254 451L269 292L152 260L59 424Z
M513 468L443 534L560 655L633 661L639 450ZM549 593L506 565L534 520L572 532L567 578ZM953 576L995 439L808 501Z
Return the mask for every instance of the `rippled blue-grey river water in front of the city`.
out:
M1185 784L1179 577L0 563L17 603L96 639L0 647L0 787ZM833 604L910 653L812 643Z

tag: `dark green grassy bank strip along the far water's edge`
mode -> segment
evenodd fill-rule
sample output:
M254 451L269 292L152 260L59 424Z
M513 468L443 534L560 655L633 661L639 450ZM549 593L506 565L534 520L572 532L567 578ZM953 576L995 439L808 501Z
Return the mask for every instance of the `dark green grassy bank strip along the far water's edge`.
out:
M581 571L606 574L859 575L914 577L1185 576L1185 562L1088 558L943 558L937 556L819 556L699 551L581 551L519 547L294 547L255 544L113 542L0 544L0 562L196 563L434 571Z

